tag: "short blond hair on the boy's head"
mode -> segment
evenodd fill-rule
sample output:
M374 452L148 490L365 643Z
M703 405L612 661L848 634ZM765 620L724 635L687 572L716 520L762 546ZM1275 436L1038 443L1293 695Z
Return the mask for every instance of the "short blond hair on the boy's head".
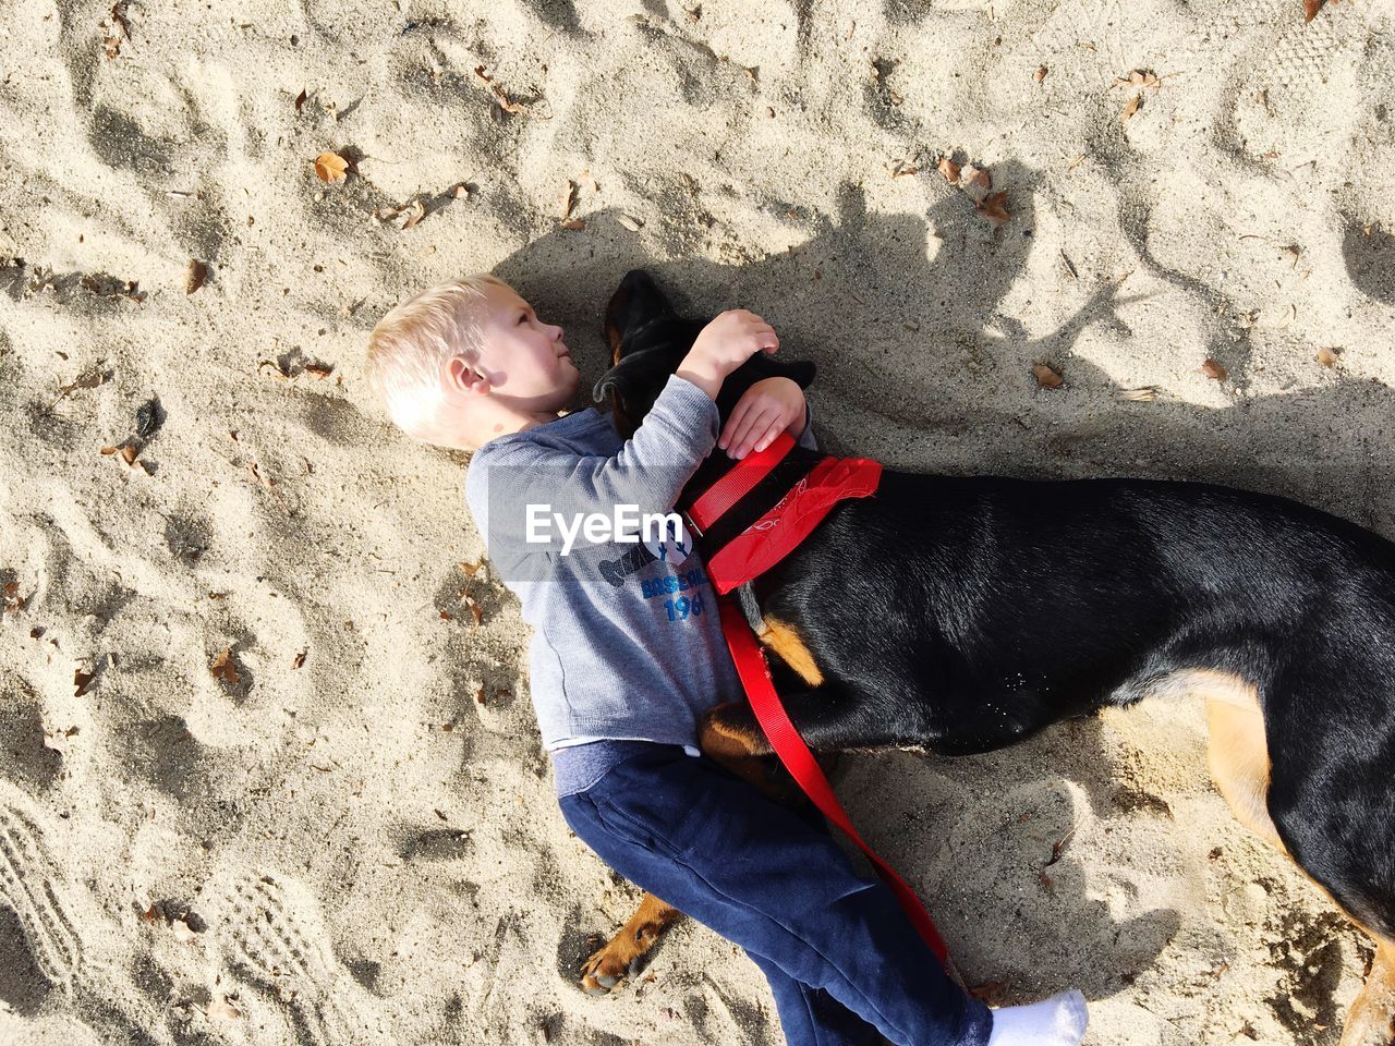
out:
M368 388L399 428L418 437L434 431L444 402L441 368L452 356L478 358L491 286L509 289L488 272L438 283L393 305L372 328Z

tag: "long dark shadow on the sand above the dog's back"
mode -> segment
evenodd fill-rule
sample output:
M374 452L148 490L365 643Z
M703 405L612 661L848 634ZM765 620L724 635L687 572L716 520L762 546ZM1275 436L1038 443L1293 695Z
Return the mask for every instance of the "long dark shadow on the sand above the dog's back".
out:
M1007 162L993 167L993 180L995 188L1009 190L1013 213L997 230L949 187L918 216L869 212L864 191L845 184L837 215L799 219L805 243L745 265L654 262L638 234L601 212L587 218L589 236L558 230L494 272L544 318L564 322L587 378L610 365L601 314L631 268L649 268L691 315L757 311L780 333L783 353L819 365L810 403L820 445L833 452L944 474L1222 483L1293 497L1395 534L1391 464L1373 453L1389 424L1391 389L1334 368L1322 372L1321 386L1282 395L1253 395L1233 384L1225 407L1120 399L1124 389L1109 372L1071 350L1094 325L1129 336L1127 305L1137 297L1112 278L1081 272L1071 315L1057 329L1030 336L1004 297L1035 247L1038 176ZM1147 225L1145 216L1138 220ZM1221 289L1151 261L1145 232L1130 238L1143 250L1144 268L1177 291L1207 307L1225 300ZM1385 245L1363 243L1360 250ZM1353 285L1378 290L1357 279L1367 255L1356 251ZM1247 350L1232 333L1218 319L1205 336L1223 338L1229 349L1222 363L1243 372ZM1187 351L1200 363L1219 349ZM1069 364L1064 391L1035 386L1031 365L1042 361ZM580 385L585 397L590 381ZM954 446L964 438L968 450ZM957 460L968 456L971 466Z

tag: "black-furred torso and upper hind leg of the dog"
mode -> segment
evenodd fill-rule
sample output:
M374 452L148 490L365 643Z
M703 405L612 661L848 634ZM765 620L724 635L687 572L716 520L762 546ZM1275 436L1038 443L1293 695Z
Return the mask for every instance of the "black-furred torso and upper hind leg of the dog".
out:
M1145 696L1253 695L1282 845L1395 936L1395 544L1382 537L1211 484L886 473L757 590L830 683L942 753Z

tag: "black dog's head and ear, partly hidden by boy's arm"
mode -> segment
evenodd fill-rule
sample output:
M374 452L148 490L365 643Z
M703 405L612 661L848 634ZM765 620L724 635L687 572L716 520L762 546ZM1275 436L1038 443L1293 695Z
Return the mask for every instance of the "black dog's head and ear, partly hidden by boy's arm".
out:
M605 307L605 340L614 365L593 391L597 403L610 403L622 437L629 438L639 428L703 326L706 324L678 315L647 272L631 269L625 273ZM812 363L756 353L723 382L717 410L725 421L741 393L762 378L791 378L806 389L813 375Z

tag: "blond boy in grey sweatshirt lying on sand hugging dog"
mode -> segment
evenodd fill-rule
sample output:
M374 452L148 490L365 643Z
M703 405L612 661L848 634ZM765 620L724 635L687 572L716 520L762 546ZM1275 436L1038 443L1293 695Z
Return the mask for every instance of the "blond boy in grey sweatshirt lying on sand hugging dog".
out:
M531 697L566 823L619 874L742 946L790 1043L851 1046L880 1032L904 1046L1076 1046L1078 992L1000 1010L967 996L822 823L695 748L703 711L739 693L695 554L668 544L618 572L633 544L590 530L565 551L537 541L541 522L565 527L558 502L575 519L618 505L670 512L714 445L744 457L787 431L812 446L804 392L788 378L756 382L718 434L723 381L778 344L753 312L723 312L624 441L597 410L559 416L580 377L562 328L480 275L389 311L370 339L368 375L410 435L478 448L466 499L534 628ZM664 598L677 589L685 594Z

